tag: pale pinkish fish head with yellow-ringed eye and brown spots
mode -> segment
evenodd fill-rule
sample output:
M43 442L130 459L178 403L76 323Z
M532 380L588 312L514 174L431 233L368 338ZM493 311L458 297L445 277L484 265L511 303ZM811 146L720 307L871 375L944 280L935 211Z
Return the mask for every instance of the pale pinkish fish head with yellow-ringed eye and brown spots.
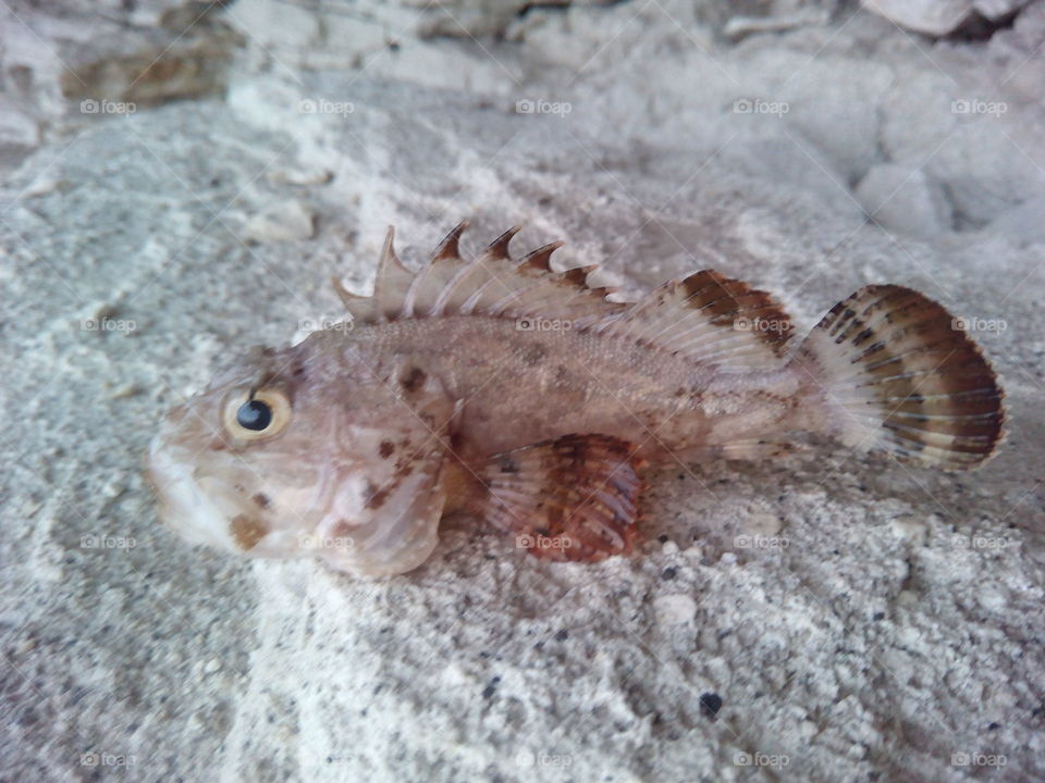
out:
M408 359L312 337L255 349L165 415L147 455L159 517L249 557L403 573L435 546L453 406Z

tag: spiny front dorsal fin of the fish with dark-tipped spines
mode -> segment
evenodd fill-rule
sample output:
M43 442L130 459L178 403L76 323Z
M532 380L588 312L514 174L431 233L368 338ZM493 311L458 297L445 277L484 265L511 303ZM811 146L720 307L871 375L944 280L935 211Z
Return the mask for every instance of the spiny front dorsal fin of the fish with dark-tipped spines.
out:
M588 286L588 276L597 266L563 273L551 270L549 260L562 243L545 245L515 262L508 245L521 227L513 226L466 261L460 256L460 235L467 227L467 222L455 226L416 273L399 261L394 232L389 228L372 297L352 294L334 281L354 320L367 324L477 314L591 322L624 310L625 306L605 300L611 289Z

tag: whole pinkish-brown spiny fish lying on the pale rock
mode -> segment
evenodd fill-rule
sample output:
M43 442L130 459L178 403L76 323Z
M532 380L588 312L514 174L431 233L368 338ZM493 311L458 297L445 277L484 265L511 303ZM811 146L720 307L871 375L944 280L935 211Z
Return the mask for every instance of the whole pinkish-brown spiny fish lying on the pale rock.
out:
M465 258L467 221L418 271L390 228L371 296L333 284L339 328L254 347L159 424L159 519L194 544L317 558L358 576L423 563L452 513L552 561L628 555L666 461L774 459L810 435L969 470L1004 393L961 322L868 285L804 337L770 294L704 270L637 301L513 259L515 226ZM815 442L815 438L813 438Z

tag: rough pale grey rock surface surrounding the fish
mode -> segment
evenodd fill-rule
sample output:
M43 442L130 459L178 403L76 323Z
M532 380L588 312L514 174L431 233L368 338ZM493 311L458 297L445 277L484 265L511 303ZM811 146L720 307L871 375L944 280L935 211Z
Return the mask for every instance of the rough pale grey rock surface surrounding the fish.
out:
M0 779L1045 778L1043 46L1011 0L0 3ZM162 411L466 216L803 330L919 288L1009 440L672 465L595 566L459 520L366 582L159 527Z

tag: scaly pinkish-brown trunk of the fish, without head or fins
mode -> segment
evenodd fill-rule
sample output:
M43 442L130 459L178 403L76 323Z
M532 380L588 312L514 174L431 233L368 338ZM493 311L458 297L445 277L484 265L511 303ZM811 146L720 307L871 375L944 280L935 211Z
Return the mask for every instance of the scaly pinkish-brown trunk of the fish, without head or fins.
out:
M722 373L630 336L521 330L515 320L418 319L352 338L374 362L416 357L465 400L455 451L479 459L578 432L628 440L647 459L769 438L808 425L802 403L814 393L795 365Z

